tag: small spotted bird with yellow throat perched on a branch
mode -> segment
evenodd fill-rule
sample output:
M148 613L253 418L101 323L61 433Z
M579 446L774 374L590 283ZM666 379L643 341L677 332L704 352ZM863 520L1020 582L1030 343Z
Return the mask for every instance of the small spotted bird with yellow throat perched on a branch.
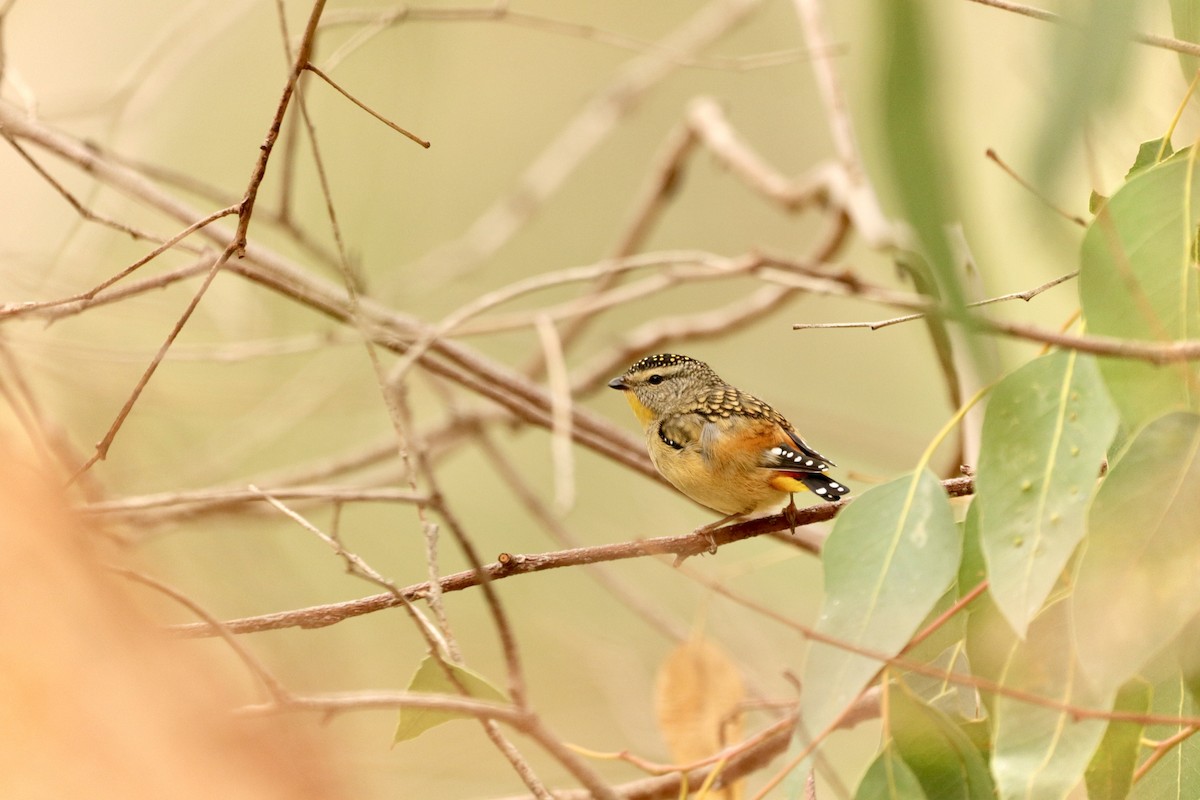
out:
M833 462L810 447L782 414L721 380L703 361L650 355L608 381L642 423L650 461L662 477L727 522L782 503L794 492L835 503L850 489L826 475Z

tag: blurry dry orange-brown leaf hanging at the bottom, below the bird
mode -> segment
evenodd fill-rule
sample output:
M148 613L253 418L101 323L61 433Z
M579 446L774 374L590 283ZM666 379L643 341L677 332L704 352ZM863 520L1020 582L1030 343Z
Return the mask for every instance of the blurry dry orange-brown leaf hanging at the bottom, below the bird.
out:
M692 638L659 667L654 705L671 758L679 764L708 758L742 738L738 706L745 688L738 668L716 644ZM737 796L736 787L709 792L713 800Z

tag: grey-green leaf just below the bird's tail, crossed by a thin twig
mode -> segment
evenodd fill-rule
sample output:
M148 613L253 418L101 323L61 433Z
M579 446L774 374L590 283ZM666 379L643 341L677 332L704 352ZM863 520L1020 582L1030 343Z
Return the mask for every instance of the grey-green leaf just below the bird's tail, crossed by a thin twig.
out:
M838 516L822 552L826 596L816 627L839 640L900 651L954 579L961 542L942 485L928 470L868 489ZM802 717L817 735L880 662L814 642Z

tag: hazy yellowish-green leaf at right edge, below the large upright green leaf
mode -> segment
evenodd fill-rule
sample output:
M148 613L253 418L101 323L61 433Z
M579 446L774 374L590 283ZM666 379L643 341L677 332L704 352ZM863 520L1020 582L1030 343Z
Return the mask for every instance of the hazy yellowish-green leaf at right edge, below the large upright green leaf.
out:
M1200 415L1136 434L1092 504L1072 595L1080 662L1116 691L1200 613Z

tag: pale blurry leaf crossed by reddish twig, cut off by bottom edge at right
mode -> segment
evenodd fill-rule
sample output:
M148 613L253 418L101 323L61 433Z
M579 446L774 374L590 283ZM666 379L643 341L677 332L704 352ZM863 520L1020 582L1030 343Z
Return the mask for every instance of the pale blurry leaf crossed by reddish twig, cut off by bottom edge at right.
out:
M1067 610L1061 601L1045 608L1001 675L1008 688L1068 706L997 693L991 772L1001 800L1066 798L1082 780L1104 736L1103 720L1080 720L1069 710L1110 708L1115 692L1097 692L1080 674Z

